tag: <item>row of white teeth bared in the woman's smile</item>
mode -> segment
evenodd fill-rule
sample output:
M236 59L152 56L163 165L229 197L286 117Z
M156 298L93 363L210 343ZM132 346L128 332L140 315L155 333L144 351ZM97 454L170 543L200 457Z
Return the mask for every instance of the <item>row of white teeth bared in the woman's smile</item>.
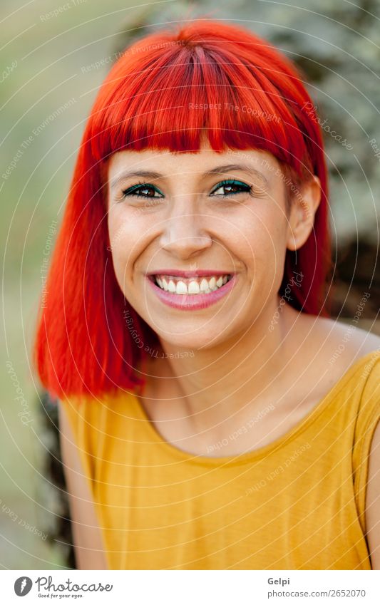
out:
M161 290L169 292L170 294L190 294L197 296L197 294L210 294L216 290L219 290L227 284L227 281L232 279L232 274L226 273L225 275L210 275L207 278L204 277L190 277L188 279L178 277L175 275L150 275L149 279L158 286Z

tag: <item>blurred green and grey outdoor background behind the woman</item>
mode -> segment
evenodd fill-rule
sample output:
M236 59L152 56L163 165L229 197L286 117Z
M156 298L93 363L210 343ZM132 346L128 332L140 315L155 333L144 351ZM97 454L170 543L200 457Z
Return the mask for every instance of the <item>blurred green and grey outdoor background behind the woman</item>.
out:
M370 291L359 327L380 333L380 4L2 0L0 10L0 566L61 569L70 567L59 534L65 500L48 470L49 450L58 455L56 435L46 420L48 407L41 408L31 343L43 259L49 258L86 117L111 58L169 22L207 16L252 29L302 67L325 120L337 257L334 314L349 323ZM348 145L332 138L327 125Z

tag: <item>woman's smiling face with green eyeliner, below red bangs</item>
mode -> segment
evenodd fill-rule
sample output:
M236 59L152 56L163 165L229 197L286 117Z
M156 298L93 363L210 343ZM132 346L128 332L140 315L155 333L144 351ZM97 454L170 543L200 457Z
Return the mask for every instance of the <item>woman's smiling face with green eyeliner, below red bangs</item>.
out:
M161 341L216 346L277 308L294 234L268 152L117 152L108 229L118 284Z

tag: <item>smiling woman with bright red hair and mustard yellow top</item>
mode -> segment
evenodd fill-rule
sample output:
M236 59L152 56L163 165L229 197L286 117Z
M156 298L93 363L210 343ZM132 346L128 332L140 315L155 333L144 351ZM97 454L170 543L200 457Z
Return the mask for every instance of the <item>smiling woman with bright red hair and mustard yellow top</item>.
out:
M380 569L380 338L328 316L311 106L202 20L98 93L36 338L81 569Z

